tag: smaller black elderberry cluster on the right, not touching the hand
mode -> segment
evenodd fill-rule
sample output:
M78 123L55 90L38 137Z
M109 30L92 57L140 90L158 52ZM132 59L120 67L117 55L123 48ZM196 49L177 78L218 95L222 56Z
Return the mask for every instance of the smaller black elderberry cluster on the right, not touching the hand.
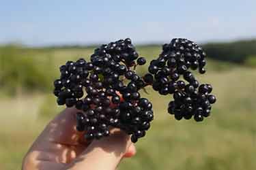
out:
M176 120L194 119L199 122L210 116L211 104L216 97L210 95L212 86L201 84L189 71L199 70L205 73L205 52L200 46L188 39L172 39L170 44L162 46L162 53L151 61L149 73L144 76L145 82L152 84L160 95L172 94L174 101L168 106L169 114ZM184 80L180 80L183 77Z

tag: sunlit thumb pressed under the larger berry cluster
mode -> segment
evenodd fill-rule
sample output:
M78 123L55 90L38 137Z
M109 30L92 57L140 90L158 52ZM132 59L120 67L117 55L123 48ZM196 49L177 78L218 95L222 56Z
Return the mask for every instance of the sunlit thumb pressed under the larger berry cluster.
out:
M113 129L111 136L92 141L88 148L68 165L68 169L114 170L124 156L129 157L126 153L132 152L131 150L134 148L130 136Z

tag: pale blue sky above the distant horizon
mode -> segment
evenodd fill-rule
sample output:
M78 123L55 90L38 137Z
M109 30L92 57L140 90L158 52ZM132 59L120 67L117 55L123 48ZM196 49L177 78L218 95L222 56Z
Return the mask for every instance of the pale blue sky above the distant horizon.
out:
M131 37L135 44L229 41L256 37L255 0L54 1L0 3L0 44L94 44Z

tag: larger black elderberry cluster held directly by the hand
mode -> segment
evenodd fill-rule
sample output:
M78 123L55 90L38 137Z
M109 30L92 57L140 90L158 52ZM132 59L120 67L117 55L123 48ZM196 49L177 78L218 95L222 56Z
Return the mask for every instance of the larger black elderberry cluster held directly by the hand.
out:
M89 62L81 58L60 67L61 76L54 82L57 103L81 110L76 129L86 131L86 139L108 136L117 127L135 143L154 118L152 103L139 93L146 83L132 70L145 63L128 38L104 44Z

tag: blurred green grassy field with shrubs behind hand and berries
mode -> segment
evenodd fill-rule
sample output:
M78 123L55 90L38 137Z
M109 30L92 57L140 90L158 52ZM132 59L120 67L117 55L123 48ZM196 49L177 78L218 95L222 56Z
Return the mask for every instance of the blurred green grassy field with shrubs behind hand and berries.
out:
M150 59L159 54L160 47L139 47L138 51ZM5 80L10 81L0 90L0 169L16 170L35 137L63 109L49 90L59 65L88 57L93 49L0 52L5 56L1 57L0 80L8 75ZM198 79L214 87L218 101L212 116L201 123L174 120L167 114L171 97L160 98L148 90L150 95L143 96L154 103L152 129L136 144L137 155L124 160L119 169L256 169L256 69L211 60L207 69Z

